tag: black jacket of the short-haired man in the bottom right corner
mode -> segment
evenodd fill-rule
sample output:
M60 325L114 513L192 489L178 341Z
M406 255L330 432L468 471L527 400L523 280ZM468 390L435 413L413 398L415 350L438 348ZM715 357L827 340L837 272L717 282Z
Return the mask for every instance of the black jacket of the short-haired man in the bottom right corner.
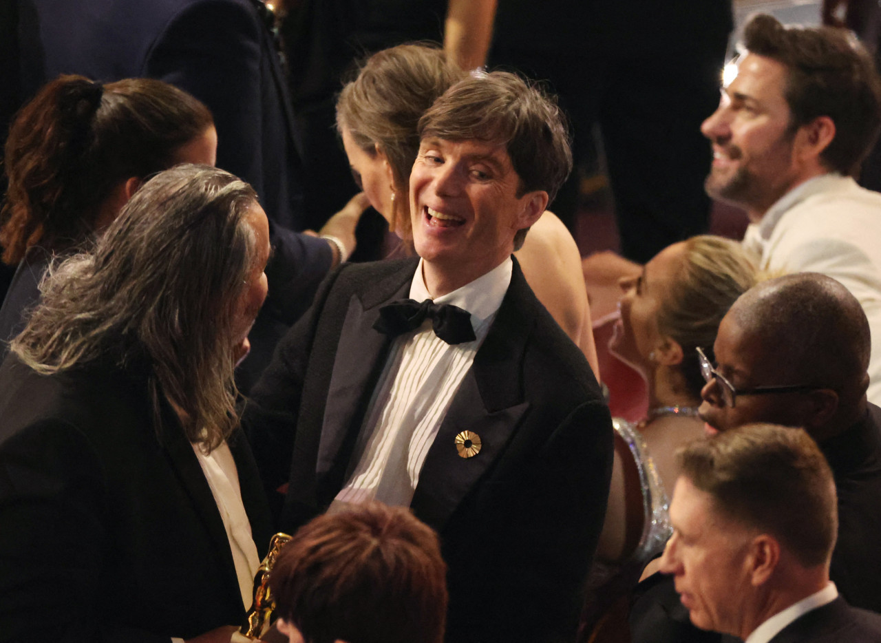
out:
M881 616L851 607L841 597L784 627L770 643L878 643Z

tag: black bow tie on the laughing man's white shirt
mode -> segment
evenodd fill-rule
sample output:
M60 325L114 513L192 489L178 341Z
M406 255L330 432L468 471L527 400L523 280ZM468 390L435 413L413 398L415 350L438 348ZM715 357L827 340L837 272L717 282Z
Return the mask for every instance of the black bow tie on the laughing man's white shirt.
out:
M380 308L380 318L374 329L396 337L418 329L426 318L432 320L434 334L447 344L462 344L477 339L471 328L471 315L452 304L435 304L426 299L421 304L415 299L398 299Z

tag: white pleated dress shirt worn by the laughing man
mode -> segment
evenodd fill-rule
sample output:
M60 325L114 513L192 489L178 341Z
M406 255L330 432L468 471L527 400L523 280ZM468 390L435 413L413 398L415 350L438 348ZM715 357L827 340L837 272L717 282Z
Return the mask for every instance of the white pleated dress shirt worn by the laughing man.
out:
M433 299L467 310L475 340L447 344L434 335L431 320L396 337L367 407L348 482L330 511L368 500L410 505L428 449L492 325L513 269L508 258L470 284ZM413 275L410 298L432 299L421 261Z

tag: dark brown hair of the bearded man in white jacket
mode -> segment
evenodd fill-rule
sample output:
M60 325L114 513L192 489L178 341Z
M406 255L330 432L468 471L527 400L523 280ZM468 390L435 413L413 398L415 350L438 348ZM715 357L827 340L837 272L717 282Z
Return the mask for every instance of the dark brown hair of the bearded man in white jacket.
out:
M790 125L831 118L835 137L821 158L830 170L855 174L881 128L881 79L855 36L829 26L782 26L759 14L744 29L744 47L786 65Z

